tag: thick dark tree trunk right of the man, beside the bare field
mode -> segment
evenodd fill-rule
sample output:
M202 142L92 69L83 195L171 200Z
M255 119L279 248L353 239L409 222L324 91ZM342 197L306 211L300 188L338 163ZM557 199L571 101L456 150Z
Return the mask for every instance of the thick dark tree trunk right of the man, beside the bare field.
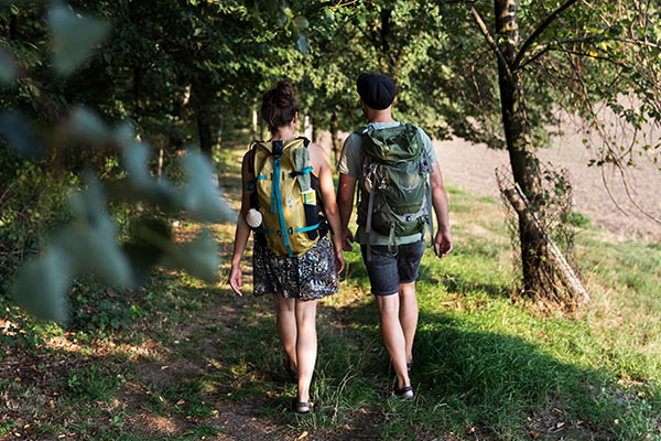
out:
M518 6L518 0L495 0L496 29L502 36L499 47L503 60L498 60L502 125L514 182L523 190L535 216L542 219L543 211L539 209L543 197L539 160L530 136L520 72L509 68L513 65L519 44ZM554 297L556 288L548 259L548 244L540 239L534 225L524 216L519 216L519 238L524 292L532 297Z

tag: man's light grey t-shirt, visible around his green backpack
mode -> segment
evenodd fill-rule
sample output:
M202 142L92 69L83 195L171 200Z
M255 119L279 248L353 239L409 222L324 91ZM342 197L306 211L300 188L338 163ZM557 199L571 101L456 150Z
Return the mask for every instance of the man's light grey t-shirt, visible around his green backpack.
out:
M362 173L362 133L371 128L379 130L400 125L402 125L402 122L370 122L366 127L362 127L349 135L345 140L344 147L342 148L342 154L339 157L339 162L337 163L337 171L342 174L359 179L360 174ZM434 152L432 140L420 127L418 127L418 130L420 130L424 150L429 154L430 160L432 162L436 162L436 153ZM359 183L357 183L357 185L359 185ZM424 238L422 233L416 233L411 236L400 236L397 238L397 244L412 244L422 238ZM358 226L358 232L356 232L356 240L358 240L358 243L361 245L366 245L368 243L367 233L365 232L364 226ZM371 245L388 245L388 236L380 235L372 229L369 232L369 243Z

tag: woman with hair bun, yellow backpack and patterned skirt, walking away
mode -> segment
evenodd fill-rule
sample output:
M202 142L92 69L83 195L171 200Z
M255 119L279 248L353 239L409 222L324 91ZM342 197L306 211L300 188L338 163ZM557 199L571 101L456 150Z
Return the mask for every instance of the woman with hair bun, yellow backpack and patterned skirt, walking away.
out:
M299 384L292 408L307 413L317 353L316 301L337 292L344 268L333 172L321 146L296 138L299 103L291 82L264 94L261 114L271 139L253 143L243 157L229 284L241 295L240 261L252 229L253 293L275 299L284 367ZM328 230L337 234L330 239Z

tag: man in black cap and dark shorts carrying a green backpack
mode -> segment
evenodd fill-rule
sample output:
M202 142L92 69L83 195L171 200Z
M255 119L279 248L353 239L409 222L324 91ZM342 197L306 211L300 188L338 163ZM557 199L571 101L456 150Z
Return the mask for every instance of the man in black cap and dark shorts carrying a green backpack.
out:
M337 171L338 207L345 249L356 184L359 185L358 230L362 260L376 298L383 343L397 374L395 396L413 399L411 369L418 326L415 280L424 252L425 226L438 257L452 250L447 196L429 136L392 118L397 89L386 75L360 74L357 80L367 127L345 141ZM432 233L433 234L433 233Z

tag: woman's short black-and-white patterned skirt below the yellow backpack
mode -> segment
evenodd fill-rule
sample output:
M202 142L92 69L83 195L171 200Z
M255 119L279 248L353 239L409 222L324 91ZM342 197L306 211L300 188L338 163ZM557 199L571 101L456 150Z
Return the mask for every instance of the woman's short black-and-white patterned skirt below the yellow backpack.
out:
M339 290L335 254L328 236L295 257L275 256L266 245L254 243L252 252L253 294L280 293L285 299L316 300Z

